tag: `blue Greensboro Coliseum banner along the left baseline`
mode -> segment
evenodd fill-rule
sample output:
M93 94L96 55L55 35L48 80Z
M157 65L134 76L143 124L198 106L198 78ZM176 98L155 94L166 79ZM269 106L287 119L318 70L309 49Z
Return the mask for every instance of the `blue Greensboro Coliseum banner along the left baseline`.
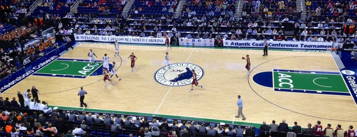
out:
M39 63L36 66L30 67L29 70L27 70L25 73L23 73L21 76L16 77L14 80L10 81L9 83L7 83L6 85L4 85L2 88L4 89L4 91L10 87L12 87L13 85L15 85L16 83L20 82L21 80L29 77L30 75L32 75L34 72L36 72L37 70L41 69L43 66L45 66L46 64L52 62L53 60L57 59L59 56L52 56L51 58ZM23 69L23 70L26 70ZM14 74L13 74L14 75Z

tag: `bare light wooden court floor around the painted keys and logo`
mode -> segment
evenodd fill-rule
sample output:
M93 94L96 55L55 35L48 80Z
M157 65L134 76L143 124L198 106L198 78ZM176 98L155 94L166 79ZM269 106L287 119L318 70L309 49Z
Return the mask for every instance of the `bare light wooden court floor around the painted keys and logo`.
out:
M103 75L89 76L85 79L47 76L30 76L8 89L2 97L15 97L17 90L25 91L36 85L40 100L50 105L79 107L77 93L84 86L88 95L85 102L88 108L112 109L123 111L160 113L209 119L234 120L237 114L237 95L244 101L245 122L271 123L287 120L292 126L294 121L306 127L317 120L323 127L330 123L332 127L341 124L347 129L357 123L357 107L350 96L274 92L273 88L261 86L252 77L260 72L273 69L339 72L331 53L269 51L263 57L262 50L208 49L208 48L173 48L146 45L120 45L121 57L114 57L113 44L81 43L74 50L60 58L88 59L92 49L100 60L108 54L111 61L117 63L118 76L123 80L115 85L104 87ZM131 53L137 57L138 70L131 72ZM201 66L204 76L199 80L205 89L195 87L189 93L191 85L165 86L154 80L154 73L163 66L165 52L169 52L171 63L192 63ZM246 54L251 58L251 75L247 76L246 61L241 57ZM108 82L109 84L109 82ZM331 83L333 84L333 83Z

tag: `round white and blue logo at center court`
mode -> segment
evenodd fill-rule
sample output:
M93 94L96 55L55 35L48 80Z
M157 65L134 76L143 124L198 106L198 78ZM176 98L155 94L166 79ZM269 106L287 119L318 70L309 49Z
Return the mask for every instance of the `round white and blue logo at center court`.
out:
M184 86L192 83L192 71L195 70L197 80L200 80L204 71L202 67L192 63L174 63L161 67L154 74L156 82L166 86Z

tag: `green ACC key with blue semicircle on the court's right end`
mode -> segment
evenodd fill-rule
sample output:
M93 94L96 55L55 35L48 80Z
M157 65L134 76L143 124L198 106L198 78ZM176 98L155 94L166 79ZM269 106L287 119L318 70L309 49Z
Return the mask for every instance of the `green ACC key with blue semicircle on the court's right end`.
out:
M255 74L253 81L272 87L275 92L350 96L339 72L273 69L273 72ZM350 82L352 86L357 86L353 82Z

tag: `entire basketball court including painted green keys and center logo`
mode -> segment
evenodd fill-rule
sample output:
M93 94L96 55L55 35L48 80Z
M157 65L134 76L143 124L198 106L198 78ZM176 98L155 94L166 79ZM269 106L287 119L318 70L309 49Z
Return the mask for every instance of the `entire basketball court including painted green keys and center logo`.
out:
M108 54L116 62L121 81L104 86L102 63L88 64L92 49L100 61ZM292 52L263 49L213 49L200 47L166 47L120 44L120 57L114 57L114 45L79 43L77 47L53 59L31 76L6 90L2 97L17 97L32 85L40 91L39 99L52 106L78 110L106 109L150 113L152 115L186 116L232 122L262 123L297 121L302 127L317 120L323 127L341 124L347 129L356 126L357 106L351 97L339 67L328 52ZM165 53L172 58L163 67ZM137 57L131 72L129 55ZM241 57L249 54L251 74ZM191 89L188 70L194 69L205 89ZM79 107L80 86L87 90ZM243 99L247 120L234 118L237 95Z

